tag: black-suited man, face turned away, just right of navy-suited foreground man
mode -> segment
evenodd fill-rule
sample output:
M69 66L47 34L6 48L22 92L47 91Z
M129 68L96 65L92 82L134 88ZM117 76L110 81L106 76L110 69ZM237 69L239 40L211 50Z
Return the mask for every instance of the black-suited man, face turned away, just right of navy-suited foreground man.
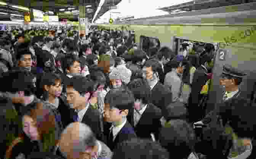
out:
M133 92L135 103L133 113L128 121L134 127L134 131L140 138L158 140L162 118L161 110L150 103L150 87L146 80L134 79L128 84Z

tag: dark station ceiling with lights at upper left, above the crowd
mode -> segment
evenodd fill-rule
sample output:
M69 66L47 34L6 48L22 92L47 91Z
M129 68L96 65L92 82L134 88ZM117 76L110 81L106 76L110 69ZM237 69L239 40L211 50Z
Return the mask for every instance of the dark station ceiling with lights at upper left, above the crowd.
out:
M107 11L109 11L109 6L117 5L121 1L122 0L105 0L95 20L98 19ZM38 9L41 11L53 11L57 13L61 12L59 11L59 9L67 9L67 8L78 9L78 6L90 6L88 7L88 12L86 13L86 17L88 17L89 21L91 22L99 6L100 0L3 0L3 2L6 2L11 5L19 5L27 8L30 7L32 9ZM7 8L7 6L3 6L3 7L1 6L0 10L1 9L3 10L6 9L7 11L12 12L11 8ZM13 11L15 12L15 9Z

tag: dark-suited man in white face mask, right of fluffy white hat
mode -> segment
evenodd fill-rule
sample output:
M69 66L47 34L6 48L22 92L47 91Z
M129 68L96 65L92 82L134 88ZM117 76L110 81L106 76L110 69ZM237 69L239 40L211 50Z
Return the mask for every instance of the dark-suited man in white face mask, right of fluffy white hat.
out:
M159 81L159 72L161 72L161 70L162 67L157 60L148 60L142 72L143 78L147 80L151 89L152 104L162 110L172 102L172 93L169 88L165 87Z

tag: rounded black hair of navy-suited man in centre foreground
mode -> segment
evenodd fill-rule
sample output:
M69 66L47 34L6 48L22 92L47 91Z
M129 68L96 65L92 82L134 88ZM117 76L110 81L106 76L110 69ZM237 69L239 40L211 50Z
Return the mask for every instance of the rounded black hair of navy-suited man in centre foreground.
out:
M115 88L106 94L104 102L120 110L131 110L134 106L134 96L128 88Z

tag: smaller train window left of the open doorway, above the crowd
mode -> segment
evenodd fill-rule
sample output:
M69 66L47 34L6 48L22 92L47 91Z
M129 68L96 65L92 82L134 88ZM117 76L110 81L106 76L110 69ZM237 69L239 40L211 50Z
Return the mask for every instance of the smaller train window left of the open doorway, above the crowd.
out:
M152 52L152 50L160 49L160 41L158 38L140 36L140 46L141 49L144 50L149 57L155 54L156 52Z

